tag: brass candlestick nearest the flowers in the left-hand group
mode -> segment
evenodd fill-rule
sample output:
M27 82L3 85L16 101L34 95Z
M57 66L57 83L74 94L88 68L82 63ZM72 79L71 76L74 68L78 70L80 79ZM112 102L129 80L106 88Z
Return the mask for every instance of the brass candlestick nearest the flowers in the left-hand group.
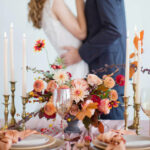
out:
M25 118L26 118L26 102L27 102L27 97L22 97L22 105L23 105L23 112L22 112L22 119L23 119L23 123L22 123L22 129L25 130Z

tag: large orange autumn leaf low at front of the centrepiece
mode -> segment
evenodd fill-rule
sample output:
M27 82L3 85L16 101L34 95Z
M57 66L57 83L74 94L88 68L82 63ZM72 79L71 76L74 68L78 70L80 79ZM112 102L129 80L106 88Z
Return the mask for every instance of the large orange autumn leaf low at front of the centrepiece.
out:
M92 117L92 109L97 109L98 104L97 103L90 103L86 106L83 106L82 110L78 112L76 115L76 118L78 120L83 120L86 116L91 118Z

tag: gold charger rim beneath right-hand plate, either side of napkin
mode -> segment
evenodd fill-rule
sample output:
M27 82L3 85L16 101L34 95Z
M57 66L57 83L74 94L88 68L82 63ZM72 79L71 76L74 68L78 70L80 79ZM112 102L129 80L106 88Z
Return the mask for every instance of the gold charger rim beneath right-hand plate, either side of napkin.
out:
M94 140L93 142L93 145L96 147L96 148L99 148L101 150L105 150L106 149L106 146L104 145L100 145L100 143L98 143L97 140ZM126 147L126 150L150 150L150 147L141 147L141 148L127 148Z

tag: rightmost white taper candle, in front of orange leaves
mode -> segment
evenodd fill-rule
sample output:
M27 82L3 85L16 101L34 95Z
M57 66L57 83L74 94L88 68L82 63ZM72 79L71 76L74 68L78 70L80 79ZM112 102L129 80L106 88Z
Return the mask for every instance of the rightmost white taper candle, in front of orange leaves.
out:
M140 104L140 73L141 73L141 41L138 42L138 68L137 68L137 89L136 104Z

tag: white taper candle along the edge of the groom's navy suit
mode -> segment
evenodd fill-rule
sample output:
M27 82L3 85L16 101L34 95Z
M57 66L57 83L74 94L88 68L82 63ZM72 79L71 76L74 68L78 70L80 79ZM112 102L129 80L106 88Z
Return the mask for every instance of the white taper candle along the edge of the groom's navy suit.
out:
M129 32L127 34L126 40L126 69L125 69L125 88L124 88L124 96L128 97L128 89L129 89Z

